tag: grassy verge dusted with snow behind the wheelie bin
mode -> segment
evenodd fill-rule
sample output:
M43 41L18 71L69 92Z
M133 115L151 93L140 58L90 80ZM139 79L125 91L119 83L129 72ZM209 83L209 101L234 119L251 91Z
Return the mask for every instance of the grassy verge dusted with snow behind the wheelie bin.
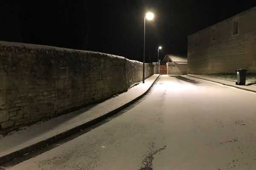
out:
M205 74L205 76L214 77L218 79L226 79L234 82L237 81L236 73ZM256 83L256 73L247 73L246 83Z

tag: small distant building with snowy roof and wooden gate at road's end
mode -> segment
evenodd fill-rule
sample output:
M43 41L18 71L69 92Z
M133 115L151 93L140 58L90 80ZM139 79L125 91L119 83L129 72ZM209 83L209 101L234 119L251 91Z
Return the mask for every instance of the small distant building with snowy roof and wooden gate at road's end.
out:
M184 54L167 54L160 64L160 74L187 74L187 56Z

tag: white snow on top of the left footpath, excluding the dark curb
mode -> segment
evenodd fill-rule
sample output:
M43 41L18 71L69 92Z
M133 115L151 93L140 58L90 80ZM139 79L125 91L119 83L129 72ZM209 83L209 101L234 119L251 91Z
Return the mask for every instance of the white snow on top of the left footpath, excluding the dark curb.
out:
M86 108L58 116L46 122L38 122L35 125L23 127L22 130L1 137L0 156L7 155L44 139L48 139L130 102L148 90L157 77L158 75L154 74L148 79L145 79L144 84L140 83L139 85L130 88L127 92L119 94L102 103L90 105Z

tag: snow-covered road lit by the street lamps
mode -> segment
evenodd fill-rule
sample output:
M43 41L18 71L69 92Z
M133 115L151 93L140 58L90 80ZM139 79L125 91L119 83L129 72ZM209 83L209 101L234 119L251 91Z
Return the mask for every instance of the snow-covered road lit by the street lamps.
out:
M10 170L255 170L256 93L160 76L126 112Z

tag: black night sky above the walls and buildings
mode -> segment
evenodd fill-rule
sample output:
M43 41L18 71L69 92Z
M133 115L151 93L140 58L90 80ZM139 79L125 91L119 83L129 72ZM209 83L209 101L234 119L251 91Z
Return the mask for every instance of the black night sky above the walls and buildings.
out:
M143 60L186 54L187 37L241 11L256 0L0 0L0 40L52 45ZM150 59L150 60L149 60Z

